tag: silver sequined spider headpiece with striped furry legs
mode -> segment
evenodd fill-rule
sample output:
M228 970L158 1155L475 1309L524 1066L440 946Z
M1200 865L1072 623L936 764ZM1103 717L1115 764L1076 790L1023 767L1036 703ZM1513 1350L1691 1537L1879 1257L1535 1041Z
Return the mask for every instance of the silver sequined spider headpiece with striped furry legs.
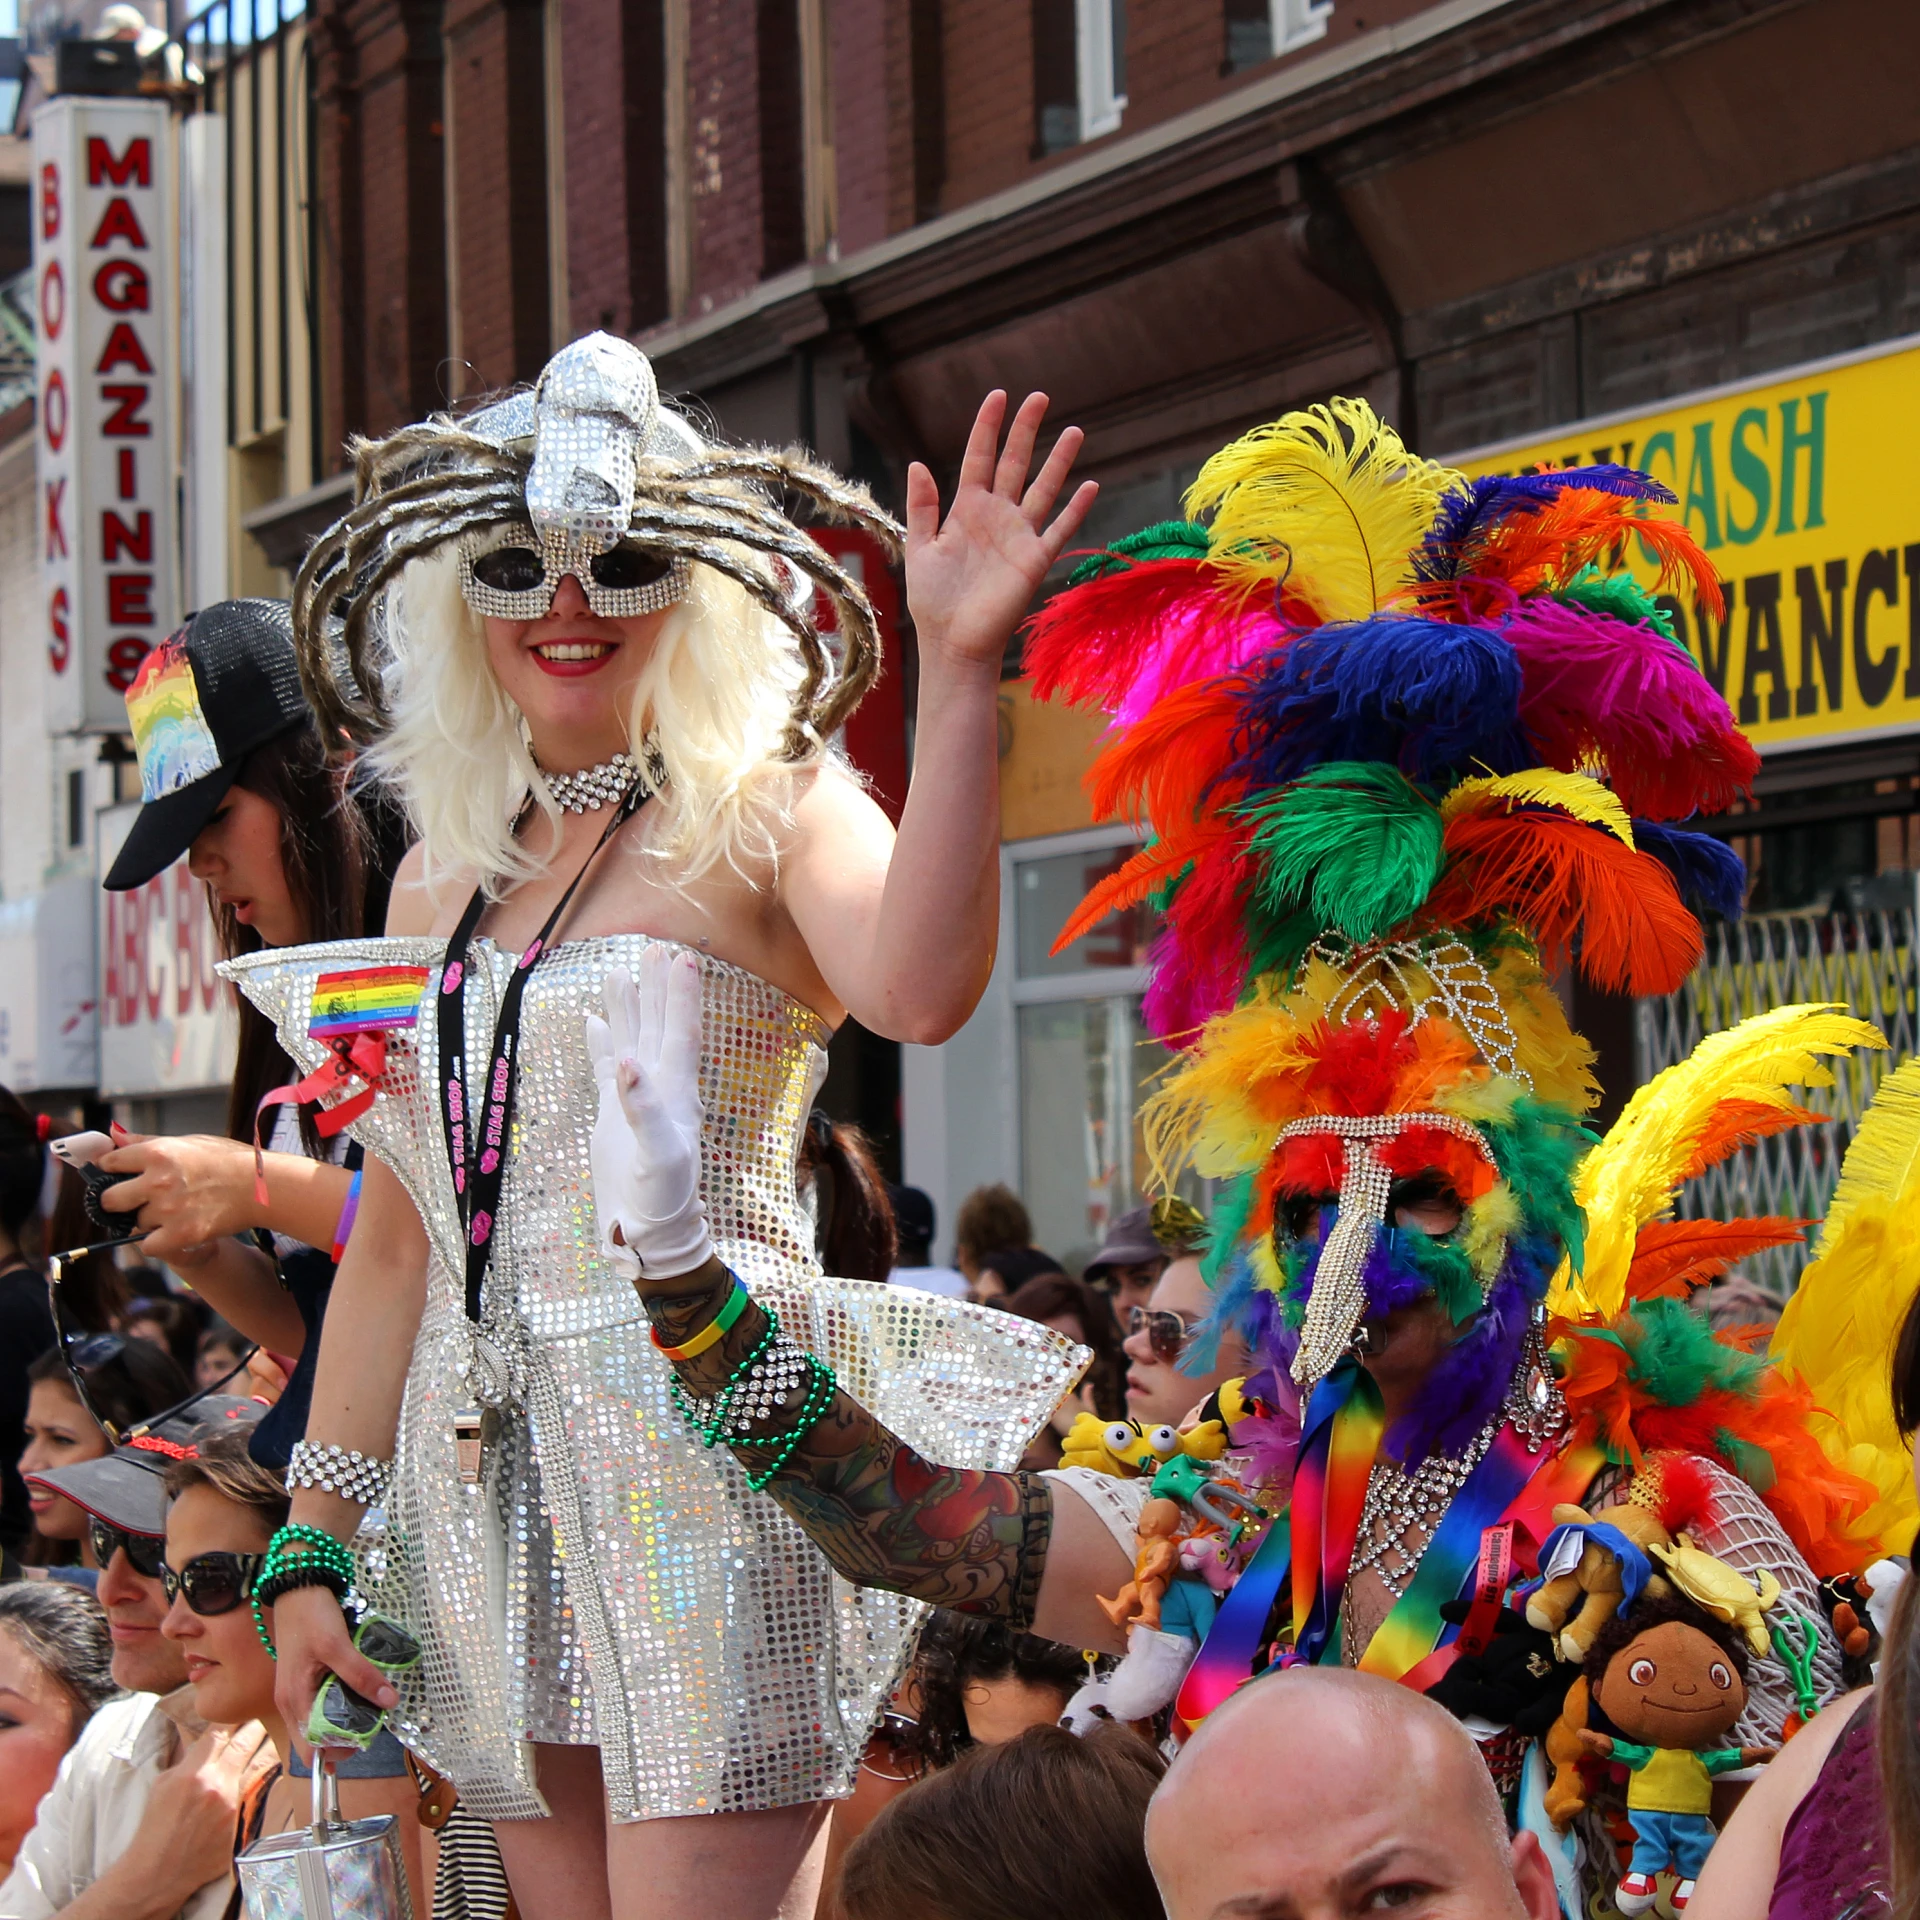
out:
M468 538L497 540L509 524L532 528L543 574L557 584L574 572L589 601L593 557L616 547L672 561L655 582L607 588L651 595L645 611L662 605L666 582L684 591L693 564L737 582L799 645L789 758L831 739L879 674L866 589L780 503L793 497L818 518L862 528L889 559L900 551L899 524L866 488L806 453L708 445L660 403L645 353L628 340L588 334L563 348L530 392L363 440L353 455L353 511L313 543L294 580L294 637L321 722L355 739L380 735L390 718L388 586L413 561ZM528 605L536 591L551 599L532 568L520 591ZM816 612L822 599L833 655Z

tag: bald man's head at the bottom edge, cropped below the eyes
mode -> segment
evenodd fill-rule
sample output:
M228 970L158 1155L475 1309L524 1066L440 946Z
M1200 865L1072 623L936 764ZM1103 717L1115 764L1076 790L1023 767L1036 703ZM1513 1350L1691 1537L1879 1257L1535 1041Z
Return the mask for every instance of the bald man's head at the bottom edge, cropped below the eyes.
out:
M1206 1720L1154 1795L1146 1853L1167 1920L1559 1916L1465 1728L1327 1667L1258 1680Z

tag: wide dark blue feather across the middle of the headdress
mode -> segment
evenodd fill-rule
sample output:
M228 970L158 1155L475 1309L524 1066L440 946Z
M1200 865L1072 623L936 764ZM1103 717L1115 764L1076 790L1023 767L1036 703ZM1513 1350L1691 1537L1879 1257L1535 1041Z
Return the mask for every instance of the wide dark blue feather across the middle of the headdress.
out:
M1258 664L1225 778L1258 791L1325 760L1390 760L1432 783L1532 766L1521 668L1486 628L1388 614L1309 628Z

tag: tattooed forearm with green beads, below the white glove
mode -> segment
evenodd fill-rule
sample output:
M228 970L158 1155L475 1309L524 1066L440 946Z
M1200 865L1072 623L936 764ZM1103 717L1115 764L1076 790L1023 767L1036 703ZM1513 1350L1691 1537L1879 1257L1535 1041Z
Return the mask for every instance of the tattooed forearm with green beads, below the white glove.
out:
M695 1277L699 1279L699 1277ZM682 1346L707 1327L732 1288L732 1275L676 1283L649 1296L660 1338ZM682 1386L718 1394L766 1332L766 1313L749 1304L728 1332L691 1359L674 1359ZM804 1388L781 1402L755 1432L730 1442L749 1473L772 1461L791 1428ZM785 1457L766 1492L854 1586L910 1594L960 1613L1025 1626L1046 1559L1052 1501L1027 1473L939 1467L883 1427L845 1392Z

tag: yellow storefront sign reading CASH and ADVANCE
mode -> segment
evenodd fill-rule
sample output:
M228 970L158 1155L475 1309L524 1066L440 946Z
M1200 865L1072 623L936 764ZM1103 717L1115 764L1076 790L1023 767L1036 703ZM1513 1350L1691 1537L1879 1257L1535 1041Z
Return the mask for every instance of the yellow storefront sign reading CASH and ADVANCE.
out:
M1920 340L1450 461L1473 476L1619 461L1672 488L1726 612L1667 597L1761 749L1920 728ZM1634 543L1630 570L1655 568Z

